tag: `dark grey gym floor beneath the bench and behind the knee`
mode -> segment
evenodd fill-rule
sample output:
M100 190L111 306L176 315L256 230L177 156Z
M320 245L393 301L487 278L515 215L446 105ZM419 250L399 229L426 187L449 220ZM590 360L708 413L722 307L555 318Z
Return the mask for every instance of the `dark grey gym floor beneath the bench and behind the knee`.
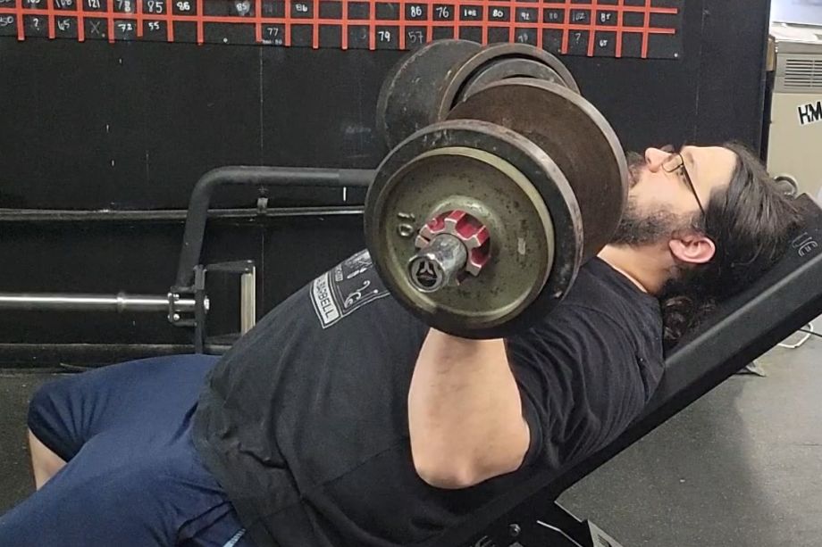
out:
M822 319L814 326L822 332ZM818 547L822 339L757 363L767 377L729 378L560 502L624 547ZM32 490L26 407L53 377L0 370L0 513Z

